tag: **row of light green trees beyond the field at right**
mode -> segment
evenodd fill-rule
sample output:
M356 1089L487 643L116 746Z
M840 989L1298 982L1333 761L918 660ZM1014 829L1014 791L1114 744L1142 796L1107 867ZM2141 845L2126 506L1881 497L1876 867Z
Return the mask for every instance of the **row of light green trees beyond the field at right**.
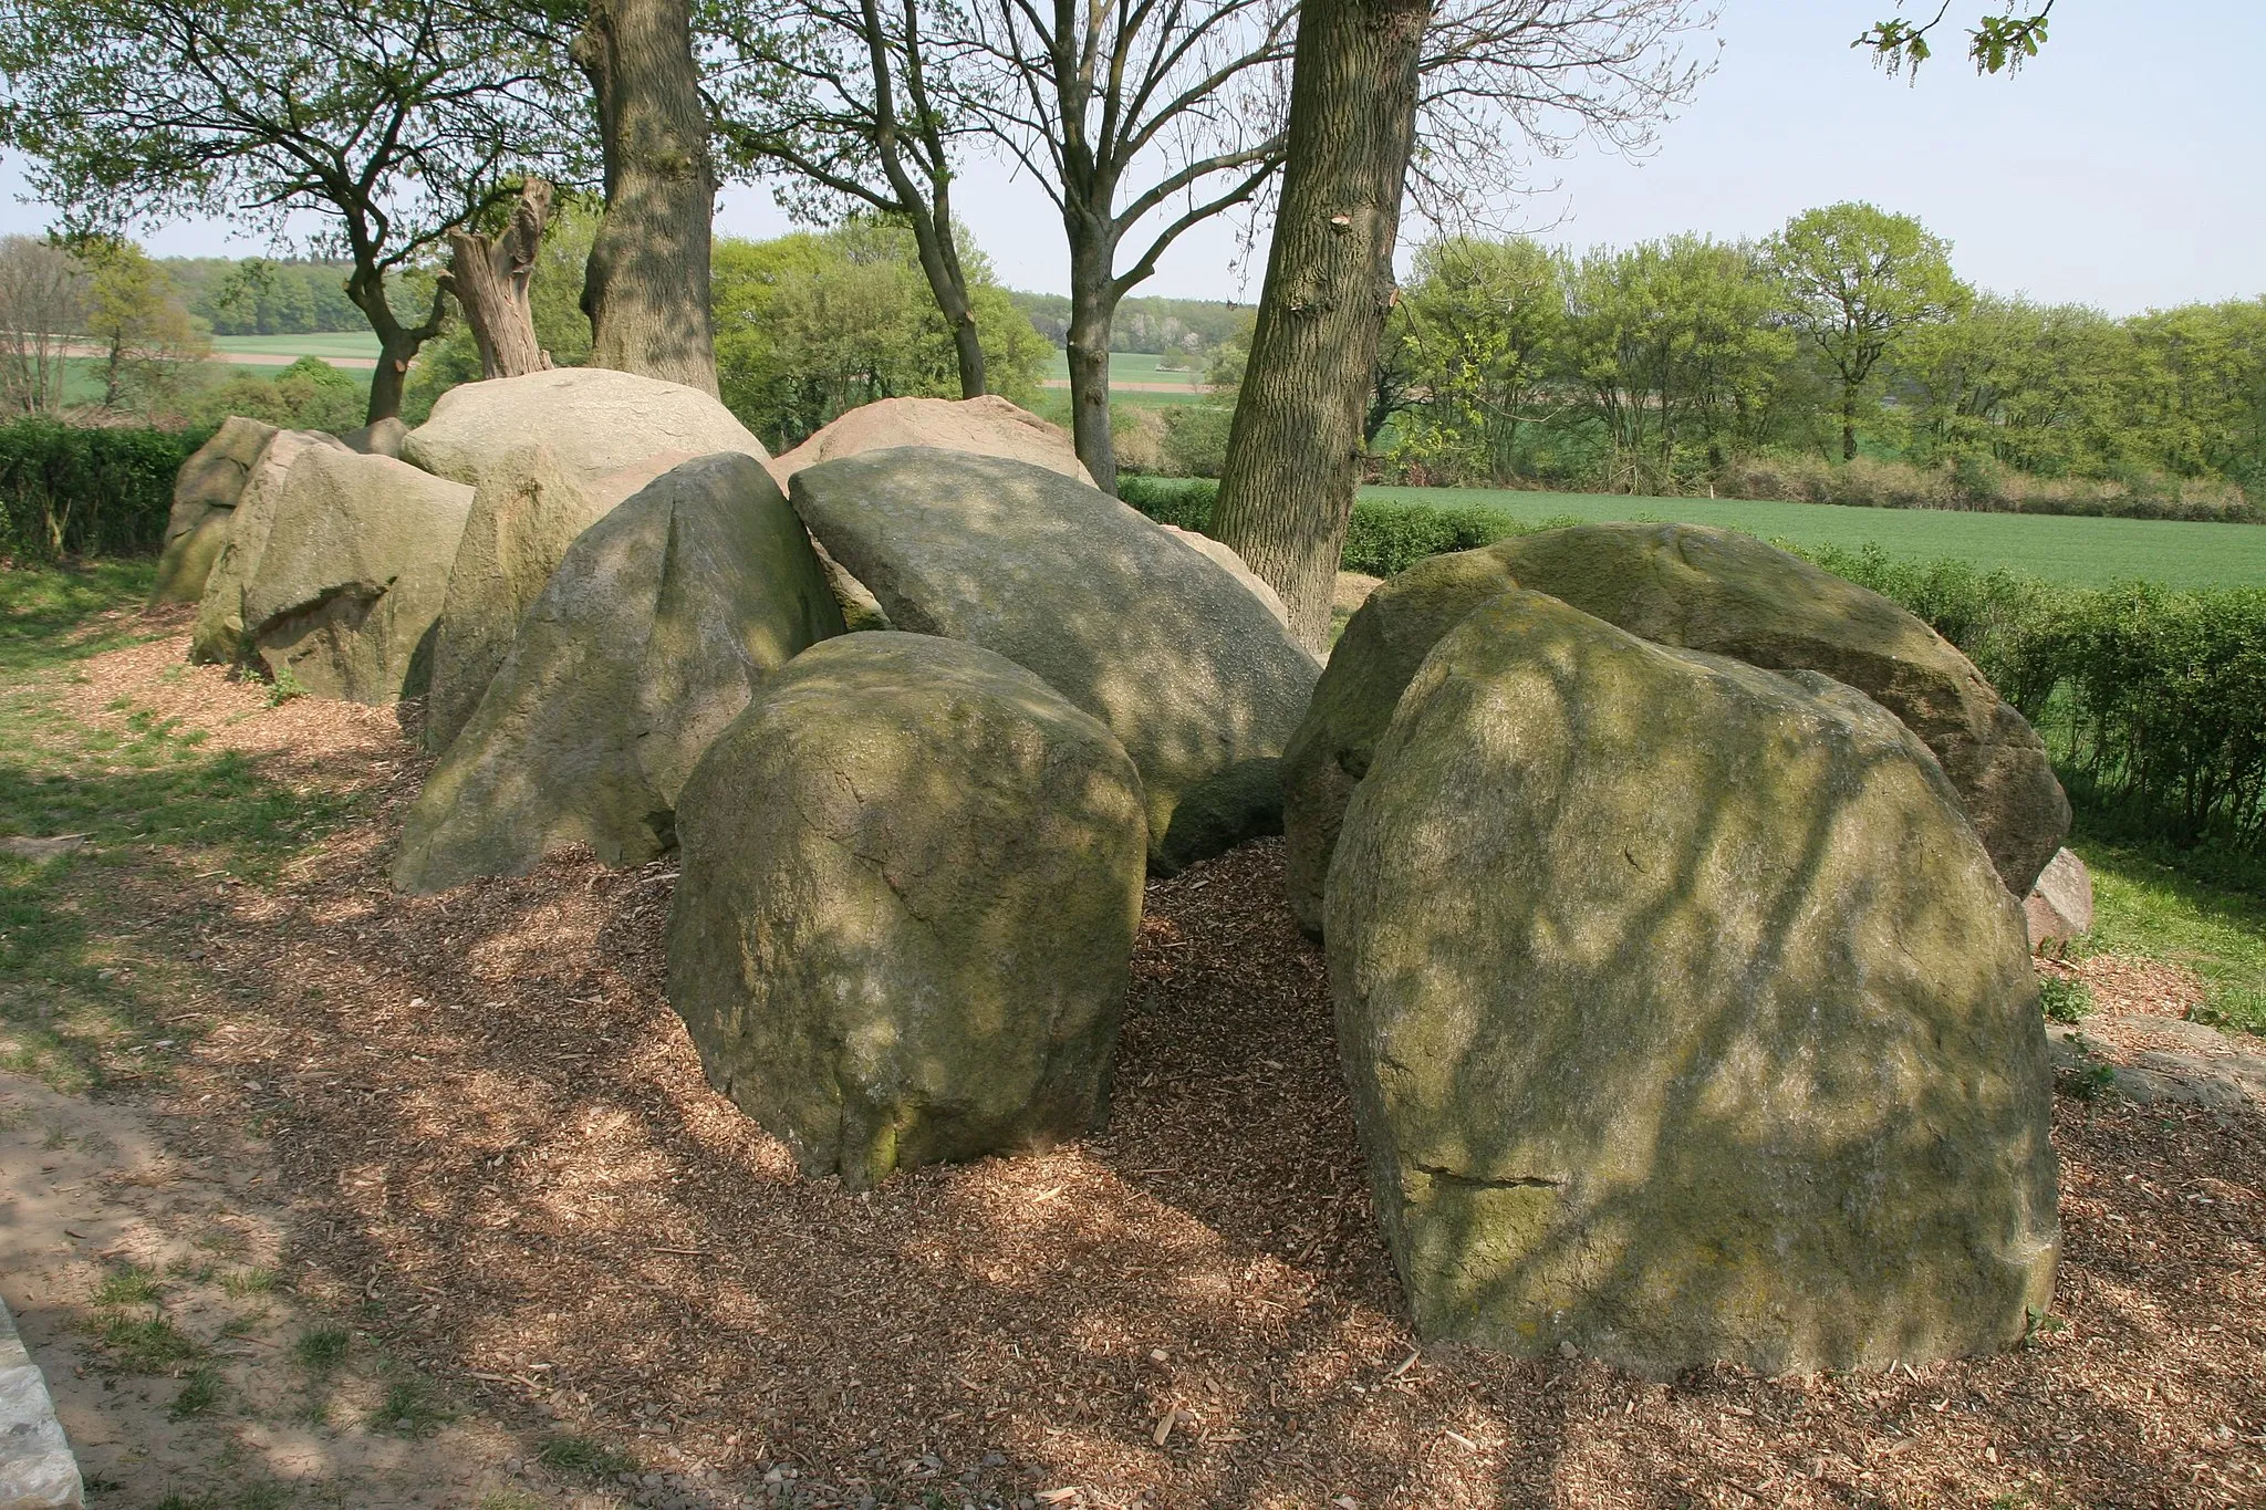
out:
M1872 206L1763 242L1434 242L1387 328L1373 475L2257 518L2266 299L2112 317L1971 290L1946 254Z

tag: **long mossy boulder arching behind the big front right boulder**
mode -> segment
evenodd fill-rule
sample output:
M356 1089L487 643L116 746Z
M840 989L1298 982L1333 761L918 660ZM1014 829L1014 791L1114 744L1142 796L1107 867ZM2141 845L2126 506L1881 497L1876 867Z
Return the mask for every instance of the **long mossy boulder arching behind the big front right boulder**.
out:
M1629 634L1770 670L1817 670L1926 740L1999 878L2021 896L2069 831L2044 740L1919 618L1747 534L1577 525L1419 561L1346 625L1283 761L1292 912L1314 930L1337 820L1369 747L1432 643L1493 593L1525 586Z

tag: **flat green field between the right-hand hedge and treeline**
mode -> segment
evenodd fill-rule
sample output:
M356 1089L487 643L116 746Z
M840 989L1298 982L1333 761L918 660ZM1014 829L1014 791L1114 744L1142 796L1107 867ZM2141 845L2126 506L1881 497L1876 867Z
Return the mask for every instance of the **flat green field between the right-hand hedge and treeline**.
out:
M1627 498L1620 494L1518 494L1464 487L1364 487L1362 498L1430 507L1484 507L1523 521L1659 518L1722 525L1797 546L1876 543L1899 557L1960 557L1976 566L2166 586L2266 586L2266 525L2196 525L2155 518L2064 518L2055 514L1956 514L1946 509L1851 509L1831 503L1731 498Z

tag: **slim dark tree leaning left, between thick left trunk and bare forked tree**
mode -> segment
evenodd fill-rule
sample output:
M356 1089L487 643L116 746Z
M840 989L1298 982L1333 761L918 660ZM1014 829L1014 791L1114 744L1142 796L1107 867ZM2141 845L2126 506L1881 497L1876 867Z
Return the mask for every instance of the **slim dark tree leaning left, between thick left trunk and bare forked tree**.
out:
M913 229L920 272L952 331L961 396L988 389L968 272L952 224L952 158L968 115L920 0L807 0L775 25L741 16L727 27L734 68L712 79L721 131L757 172L784 170L800 190L782 199L802 220L834 220L843 204Z

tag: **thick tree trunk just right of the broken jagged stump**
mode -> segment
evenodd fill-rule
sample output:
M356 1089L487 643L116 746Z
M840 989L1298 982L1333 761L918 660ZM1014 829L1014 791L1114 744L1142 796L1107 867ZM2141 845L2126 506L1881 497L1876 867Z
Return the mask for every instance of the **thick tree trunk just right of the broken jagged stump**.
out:
M605 217L589 249L589 362L716 392L716 168L689 0L591 0L573 61L598 102Z

